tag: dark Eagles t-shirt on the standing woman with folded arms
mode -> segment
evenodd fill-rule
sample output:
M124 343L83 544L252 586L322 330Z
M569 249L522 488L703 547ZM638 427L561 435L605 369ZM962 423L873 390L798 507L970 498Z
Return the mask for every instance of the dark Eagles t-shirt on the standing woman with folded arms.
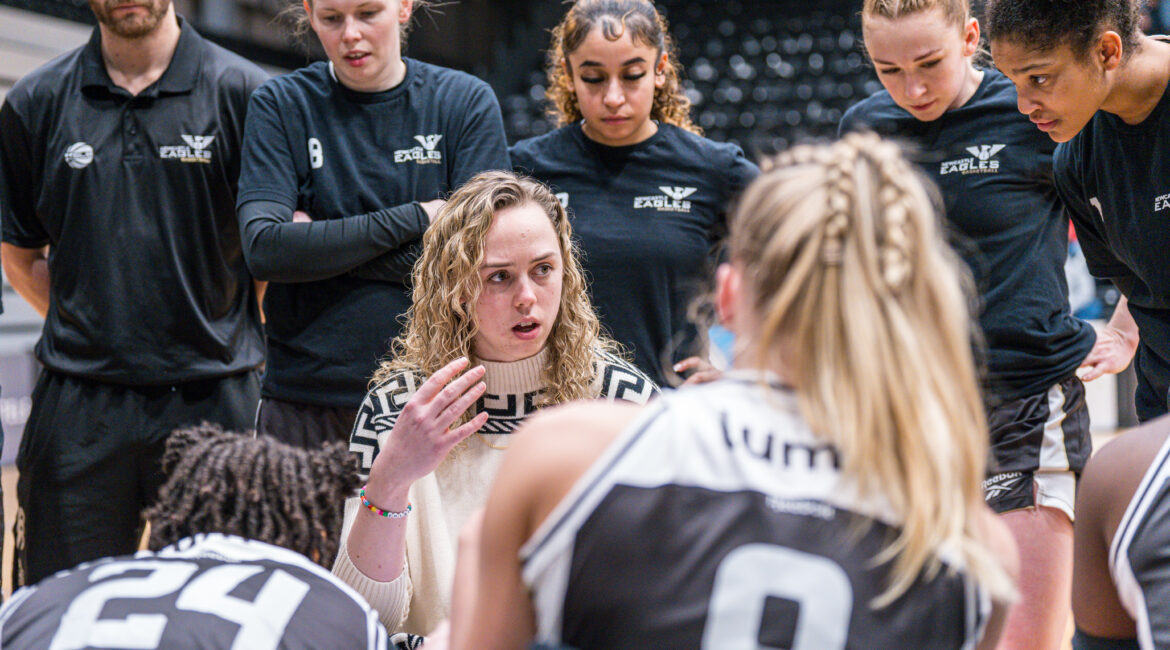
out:
M344 236L316 234L370 228L377 219L371 213L406 206L393 210L399 219L387 228L394 231L380 231L380 251L393 251L426 228L421 208L408 203L445 198L482 171L510 167L491 89L470 75L410 58L402 83L384 92L345 88L328 63L270 79L252 98L246 131L239 203L277 203L289 221L273 229L280 236L249 242L270 249L249 248L249 262L257 254L277 257L284 235L305 235L310 241L300 242L290 262L332 264L350 244ZM291 223L291 209L315 222ZM378 255L371 247L349 264L332 264L338 275L268 285L263 395L323 406L362 403L378 359L401 327L398 318L411 305L401 282L350 272Z

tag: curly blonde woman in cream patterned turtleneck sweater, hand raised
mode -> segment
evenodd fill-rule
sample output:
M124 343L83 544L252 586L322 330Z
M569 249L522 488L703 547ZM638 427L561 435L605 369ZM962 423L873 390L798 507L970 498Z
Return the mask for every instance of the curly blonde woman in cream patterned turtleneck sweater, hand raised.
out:
M448 615L456 534L512 430L548 404L656 387L599 333L565 210L531 179L484 172L456 191L413 286L350 438L369 480L333 572L387 629L419 634Z

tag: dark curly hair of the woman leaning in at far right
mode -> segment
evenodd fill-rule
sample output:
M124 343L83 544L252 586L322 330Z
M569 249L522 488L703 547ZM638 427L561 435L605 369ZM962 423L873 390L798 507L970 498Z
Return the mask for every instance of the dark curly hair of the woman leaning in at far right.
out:
M1137 49L1142 0L989 0L989 41L1027 43L1037 51L1068 46L1083 57L1106 30L1121 36L1123 56Z

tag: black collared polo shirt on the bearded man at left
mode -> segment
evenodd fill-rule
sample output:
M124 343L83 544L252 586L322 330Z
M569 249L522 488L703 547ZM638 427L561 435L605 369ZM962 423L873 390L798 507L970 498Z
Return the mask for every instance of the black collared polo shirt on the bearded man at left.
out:
M95 29L0 109L4 241L50 247L36 345L50 369L149 385L263 360L235 184L248 96L267 75L179 25L171 65L138 96L110 81Z

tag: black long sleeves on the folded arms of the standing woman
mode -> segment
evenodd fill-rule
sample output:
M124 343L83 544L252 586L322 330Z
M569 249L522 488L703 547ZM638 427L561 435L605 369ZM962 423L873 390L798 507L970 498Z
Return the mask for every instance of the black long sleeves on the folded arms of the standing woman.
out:
M238 210L243 257L257 279L312 282L357 269L367 279L400 282L413 263L410 248L431 220L418 202L344 219L292 221L292 208L277 201L248 201ZM402 255L380 257L405 248ZM366 264L373 261L372 264Z

